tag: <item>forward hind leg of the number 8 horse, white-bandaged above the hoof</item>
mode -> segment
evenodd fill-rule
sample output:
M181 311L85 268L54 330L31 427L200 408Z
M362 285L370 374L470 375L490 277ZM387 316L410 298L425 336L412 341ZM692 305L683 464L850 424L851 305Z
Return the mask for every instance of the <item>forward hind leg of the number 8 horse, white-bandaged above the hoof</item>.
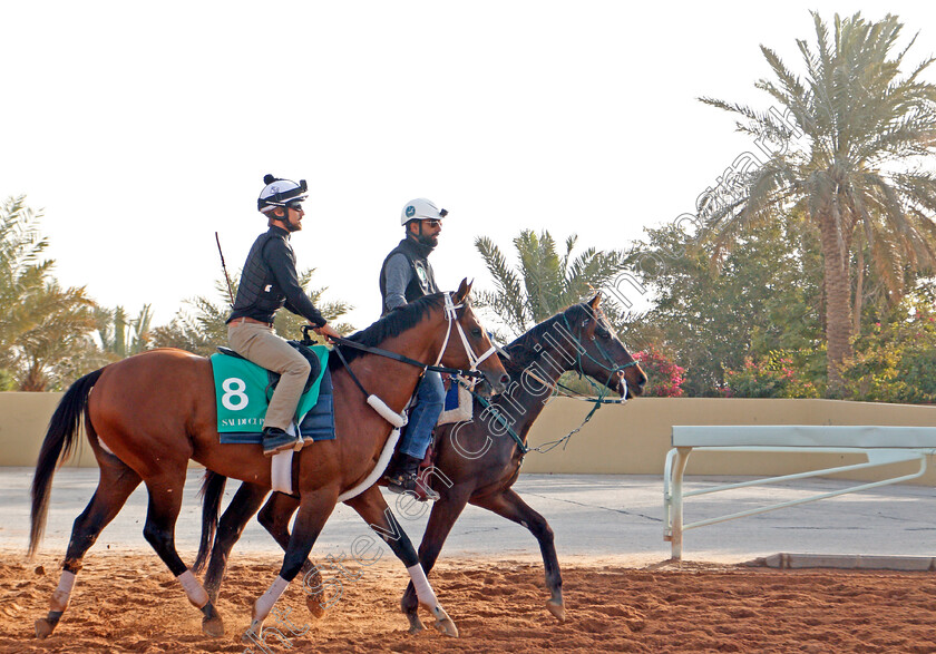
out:
M224 635L224 624L215 611L205 588L192 574L175 548L175 524L182 508L182 490L185 485L185 467L146 480L149 491L149 508L143 536L153 546L169 572L185 589L188 602L204 615L202 631L209 636Z

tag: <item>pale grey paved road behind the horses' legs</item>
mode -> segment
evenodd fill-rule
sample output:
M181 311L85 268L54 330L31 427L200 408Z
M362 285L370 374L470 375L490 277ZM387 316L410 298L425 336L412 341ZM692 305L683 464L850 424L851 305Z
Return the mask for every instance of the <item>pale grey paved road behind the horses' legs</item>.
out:
M0 549L23 551L29 528L29 468L0 468ZM195 494L199 470L191 470L185 504L176 527L183 557L197 549L199 505ZM690 489L742 478L688 477ZM705 519L842 488L831 479L754 486L730 495L686 500L686 521ZM42 550L65 553L71 523L97 486L97 470L62 468L56 475ZM663 484L660 477L613 475L523 475L514 487L543 514L556 534L560 560L598 558L643 565L670 556L663 541ZM226 499L236 482L228 482ZM391 507L398 496L388 494ZM418 541L428 518L397 516ZM101 534L95 548L148 548L143 538L146 494L143 487ZM340 506L325 526L315 553L339 556L368 527L351 509ZM13 551L10 551L13 550ZM275 545L256 521L244 533L236 551L272 551ZM760 516L693 529L685 535L683 558L737 563L776 553L936 556L936 494L924 486L889 486L855 495L780 509ZM443 557L481 556L538 559L530 534L482 509L468 507L455 526Z

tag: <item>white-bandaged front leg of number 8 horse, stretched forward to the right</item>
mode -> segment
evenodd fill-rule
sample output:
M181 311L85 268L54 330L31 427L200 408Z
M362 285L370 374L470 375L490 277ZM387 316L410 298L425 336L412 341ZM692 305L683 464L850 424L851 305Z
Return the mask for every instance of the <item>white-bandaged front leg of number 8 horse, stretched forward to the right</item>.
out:
M407 572L410 575L410 585L415 587L418 602L427 608L436 618L436 628L447 636L458 637L458 627L449 617L442 605L439 604L432 586L429 585L429 579L426 578L426 572L419 563L419 557L412 546L407 533L400 527L393 511L387 506L380 489L377 486L371 486L368 490L345 502L353 508L358 514L371 526L371 529L383 538L384 543L390 546L393 554L397 555ZM412 621L410 621L412 623ZM417 622L419 618L417 617ZM422 625L420 623L420 628ZM413 629L410 629L413 632ZM419 629L416 629L419 631Z

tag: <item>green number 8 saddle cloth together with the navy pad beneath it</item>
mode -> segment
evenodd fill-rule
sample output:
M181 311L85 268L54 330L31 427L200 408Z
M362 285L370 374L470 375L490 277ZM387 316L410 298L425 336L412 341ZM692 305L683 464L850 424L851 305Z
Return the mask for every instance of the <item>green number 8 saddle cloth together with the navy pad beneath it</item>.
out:
M328 370L329 349L313 345L319 358L319 378L302 394L296 407L296 423L304 439L334 438L334 403L331 374ZM261 441L263 420L270 397L267 371L238 357L213 354L212 372L217 406L217 431L222 443Z

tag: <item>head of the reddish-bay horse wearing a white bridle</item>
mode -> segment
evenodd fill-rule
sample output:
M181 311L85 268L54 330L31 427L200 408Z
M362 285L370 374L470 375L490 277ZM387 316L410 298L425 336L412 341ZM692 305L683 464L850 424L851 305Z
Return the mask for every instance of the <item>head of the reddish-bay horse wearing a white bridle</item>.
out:
M487 330L471 309L470 292L471 284L465 279L458 291L451 294L452 304L446 308L446 312L454 313L454 318L450 318L448 333L440 344L439 362L449 368L477 369L487 382L481 385L480 392L501 393L507 390L510 375L495 353Z

